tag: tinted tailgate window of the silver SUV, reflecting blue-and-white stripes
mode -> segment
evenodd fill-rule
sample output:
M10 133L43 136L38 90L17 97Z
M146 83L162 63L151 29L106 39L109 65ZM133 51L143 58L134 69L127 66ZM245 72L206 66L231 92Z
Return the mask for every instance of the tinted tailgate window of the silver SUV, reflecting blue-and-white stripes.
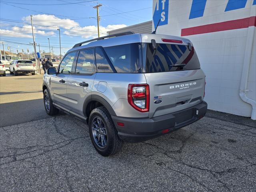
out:
M186 45L157 44L154 54L151 43L144 43L142 46L143 52L146 53L143 72L154 73L200 69L200 63L194 47L189 50ZM184 64L184 66L174 66L178 64Z

